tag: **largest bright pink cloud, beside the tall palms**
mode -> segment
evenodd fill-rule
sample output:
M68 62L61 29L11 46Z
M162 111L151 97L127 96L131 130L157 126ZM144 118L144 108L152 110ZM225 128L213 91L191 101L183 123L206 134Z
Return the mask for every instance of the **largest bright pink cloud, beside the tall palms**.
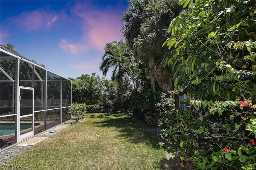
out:
M97 10L86 1L76 3L71 12L82 18L84 40L97 50L103 51L106 43L122 39L122 15L108 8Z

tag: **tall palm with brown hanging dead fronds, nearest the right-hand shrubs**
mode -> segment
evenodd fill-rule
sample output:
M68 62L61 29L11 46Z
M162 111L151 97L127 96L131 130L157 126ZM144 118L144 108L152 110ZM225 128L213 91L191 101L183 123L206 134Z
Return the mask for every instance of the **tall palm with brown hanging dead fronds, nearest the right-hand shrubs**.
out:
M140 29L143 37L138 38L138 42L146 41L150 46L148 53L154 55L155 63L151 67L154 67L154 73L158 85L162 87L164 91L173 91L173 72L168 67L163 67L164 59L167 57L168 48L162 47L162 44L170 36L167 32L170 22L176 18L182 7L176 0L157 0L151 1L147 8L144 10L144 14L148 16ZM179 107L178 95L174 95L175 105Z

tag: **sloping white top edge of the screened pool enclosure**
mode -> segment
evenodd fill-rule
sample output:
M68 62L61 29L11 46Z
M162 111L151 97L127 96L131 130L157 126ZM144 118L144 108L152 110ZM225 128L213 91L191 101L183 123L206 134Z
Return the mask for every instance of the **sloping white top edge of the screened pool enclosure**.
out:
M14 53L13 51L3 47L3 46L0 46L0 58L1 59L10 59L10 58L19 58L19 59L22 59L23 61L26 61L30 64L33 64L33 65L36 65L37 67L40 67L41 69L44 69L44 70L47 70L47 71L50 71L49 69L46 69L45 67L42 67L41 65L35 63L34 61L30 60L30 59L27 59L26 57L23 57L22 55L20 54L17 54L17 53ZM51 73L54 73L53 71L50 71ZM63 77L57 73L54 73L60 77ZM65 78L65 77L63 77ZM67 79L67 78L65 78ZM68 79L69 80L69 79Z

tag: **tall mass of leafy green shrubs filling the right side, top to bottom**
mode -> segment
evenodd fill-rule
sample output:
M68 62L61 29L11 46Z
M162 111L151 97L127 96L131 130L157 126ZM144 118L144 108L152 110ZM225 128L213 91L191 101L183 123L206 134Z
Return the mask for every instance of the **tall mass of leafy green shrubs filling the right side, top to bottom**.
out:
M174 71L174 90L193 99L188 112L166 112L168 149L196 169L255 169L256 2L180 4L188 8L168 29L165 66Z

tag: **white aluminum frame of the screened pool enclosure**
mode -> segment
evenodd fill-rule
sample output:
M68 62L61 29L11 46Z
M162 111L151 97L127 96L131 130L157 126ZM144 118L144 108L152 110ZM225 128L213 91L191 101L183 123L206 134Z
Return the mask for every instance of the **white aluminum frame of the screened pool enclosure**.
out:
M10 81L12 83L15 83L15 87L13 85L13 92L15 91L15 94L12 95L12 108L13 109L13 114L10 114L10 115L2 115L0 116L0 118L2 117L10 117L10 116L15 116L15 142L16 143L19 143L21 142L22 140L25 140L26 138L30 138L32 136L34 136L34 113L37 113L37 112L44 112L44 130L46 130L46 113L47 111L50 111L50 110L56 110L56 109L60 109L60 121L62 123L62 109L64 108L68 108L72 105L72 81L70 79L67 79L61 75L58 75L57 73L54 73L53 71L50 71L49 69L46 69L45 67L42 67L41 65L38 65L36 63L34 63L33 61L30 61L29 59L26 59L25 57L23 57L22 55L18 55L2 46L0 46L0 51L2 53L6 53L6 55L1 55L0 56L0 59L12 59L11 57L13 57L13 59L16 59L16 73L15 73L15 80L12 79L12 77L10 77L10 75L8 75L8 73L0 67L0 71L9 79L9 80L4 80L4 81ZM24 87L24 86L20 86L20 61L24 61L26 63L28 63L30 65L30 67L32 68L32 87ZM40 68L40 69L43 69L45 71L45 77L44 77L44 80L40 77L40 75L38 74L38 72L36 71L35 69L35 66ZM50 72L50 73L53 73L59 77L61 77L61 80L60 80L60 107L58 108L52 108L52 109L47 109L47 73ZM39 81L41 82L45 82L45 85L44 85L44 99L41 98L41 101L44 102L44 108L40 111L34 111L34 93L35 93L35 90L34 90L34 83L35 83L35 75L39 78ZM62 81L63 79L65 80L68 80L70 81L70 106L65 106L63 107L62 106ZM17 90L16 90L17 89ZM32 90L32 114L31 115L24 115L24 116L20 116L20 89L28 89L28 90ZM43 89L42 89L43 91ZM43 96L43 95L42 95ZM15 100L14 100L15 99ZM42 103L43 105L43 103ZM26 132L25 134L21 134L20 135L20 118L22 117L31 117L32 116L32 131L30 132Z

